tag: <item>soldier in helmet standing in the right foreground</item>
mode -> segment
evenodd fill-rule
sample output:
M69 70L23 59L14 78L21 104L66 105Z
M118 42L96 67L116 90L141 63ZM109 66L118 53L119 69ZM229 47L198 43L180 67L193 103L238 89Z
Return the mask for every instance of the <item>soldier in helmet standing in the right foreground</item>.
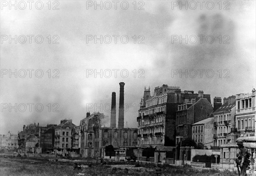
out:
M240 166L240 176L247 176L246 168L248 167L248 150L244 147L243 141L237 141L236 144L239 147L239 166Z

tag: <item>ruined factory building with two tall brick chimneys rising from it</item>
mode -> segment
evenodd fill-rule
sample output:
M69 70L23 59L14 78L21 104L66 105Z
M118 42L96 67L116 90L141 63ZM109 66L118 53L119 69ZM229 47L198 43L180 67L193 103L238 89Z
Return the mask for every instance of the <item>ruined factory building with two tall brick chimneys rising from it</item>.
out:
M105 147L112 145L114 149L120 146L135 147L137 145L137 128L124 128L124 86L121 82L119 95L118 127L116 127L116 93L112 92L110 127L102 127L103 113L87 113L80 121L81 150L83 157L106 156Z

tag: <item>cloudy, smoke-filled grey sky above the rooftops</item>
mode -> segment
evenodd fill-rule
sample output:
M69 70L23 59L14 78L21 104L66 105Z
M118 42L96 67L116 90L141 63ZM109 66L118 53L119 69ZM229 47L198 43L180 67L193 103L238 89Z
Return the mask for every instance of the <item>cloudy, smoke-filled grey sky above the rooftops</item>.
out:
M109 126L119 82L125 127L137 127L145 86L203 90L212 101L256 87L253 0L23 2L1 1L1 134L79 125L89 111Z

